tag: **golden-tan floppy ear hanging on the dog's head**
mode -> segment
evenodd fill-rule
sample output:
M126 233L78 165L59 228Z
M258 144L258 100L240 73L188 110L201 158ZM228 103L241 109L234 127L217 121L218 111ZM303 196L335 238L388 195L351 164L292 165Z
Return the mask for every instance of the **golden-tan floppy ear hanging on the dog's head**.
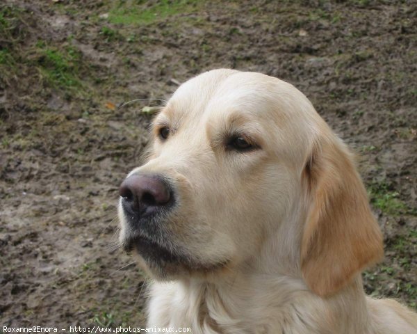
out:
M338 138L314 145L303 177L308 214L302 275L313 292L329 296L382 258L382 234L352 156Z

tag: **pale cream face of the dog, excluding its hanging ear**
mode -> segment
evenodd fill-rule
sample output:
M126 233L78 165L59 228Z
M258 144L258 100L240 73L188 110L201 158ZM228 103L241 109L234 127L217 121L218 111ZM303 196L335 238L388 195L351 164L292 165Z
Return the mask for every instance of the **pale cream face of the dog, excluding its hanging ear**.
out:
M312 254L316 225L290 217L316 219L325 147L317 138L337 138L300 91L259 73L206 72L178 88L153 136L147 162L121 186L119 209L120 241L152 276L231 269L288 219L307 229L294 241L306 245L301 256Z

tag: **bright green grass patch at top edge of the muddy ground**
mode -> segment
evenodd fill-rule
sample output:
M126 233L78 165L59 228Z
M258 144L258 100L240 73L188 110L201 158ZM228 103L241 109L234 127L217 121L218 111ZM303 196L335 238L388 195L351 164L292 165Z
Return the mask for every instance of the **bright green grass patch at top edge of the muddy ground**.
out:
M136 1L136 6L125 6L120 2L108 13L108 22L124 25L146 25L159 22L174 15L186 15L197 10L197 0L158 1L146 6L146 1Z

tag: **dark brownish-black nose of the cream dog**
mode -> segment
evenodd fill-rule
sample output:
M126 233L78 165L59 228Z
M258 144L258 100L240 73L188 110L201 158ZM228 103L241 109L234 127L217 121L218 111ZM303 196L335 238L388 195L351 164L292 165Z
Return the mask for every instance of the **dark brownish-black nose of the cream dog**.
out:
M159 177L133 174L120 186L120 196L126 209L147 214L172 201L170 188Z

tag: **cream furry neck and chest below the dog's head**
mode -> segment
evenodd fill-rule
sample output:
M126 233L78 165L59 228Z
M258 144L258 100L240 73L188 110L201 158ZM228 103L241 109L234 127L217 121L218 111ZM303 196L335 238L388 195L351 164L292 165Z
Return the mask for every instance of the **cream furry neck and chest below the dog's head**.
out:
M302 278L250 267L247 263L216 282L154 283L148 326L190 327L202 334L366 333L357 328L369 321L360 277L323 299Z

